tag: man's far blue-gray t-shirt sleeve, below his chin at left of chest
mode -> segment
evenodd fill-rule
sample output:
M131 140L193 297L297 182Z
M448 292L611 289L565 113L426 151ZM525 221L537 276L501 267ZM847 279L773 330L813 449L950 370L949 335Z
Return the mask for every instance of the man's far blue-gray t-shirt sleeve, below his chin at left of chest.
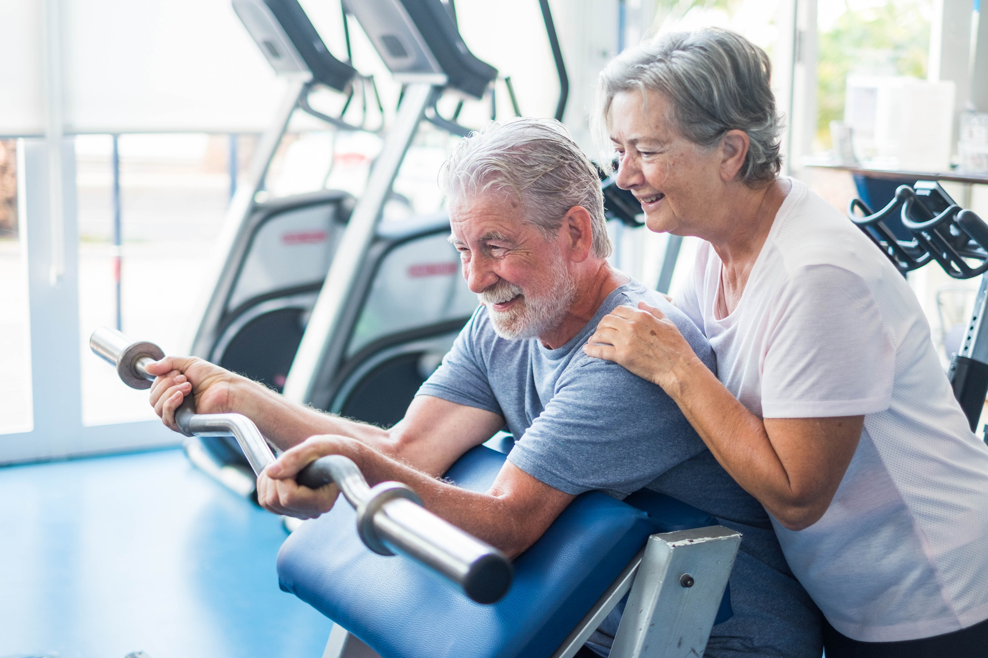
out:
M453 341L453 348L443 357L443 363L423 382L417 396L442 398L464 406L504 415L487 377L483 358L483 307L479 307Z

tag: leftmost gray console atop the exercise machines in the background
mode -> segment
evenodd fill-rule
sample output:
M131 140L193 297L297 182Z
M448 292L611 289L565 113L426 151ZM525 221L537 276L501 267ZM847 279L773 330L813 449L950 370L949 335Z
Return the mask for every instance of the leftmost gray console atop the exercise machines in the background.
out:
M343 92L357 71L334 57L297 0L233 0L233 11L279 73L310 73Z

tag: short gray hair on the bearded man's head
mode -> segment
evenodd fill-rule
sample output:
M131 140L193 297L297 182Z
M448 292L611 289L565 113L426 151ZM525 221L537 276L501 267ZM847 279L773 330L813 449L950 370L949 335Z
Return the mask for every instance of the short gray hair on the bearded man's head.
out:
M554 119L491 122L453 148L439 184L450 200L480 193L508 193L522 202L523 220L546 240L559 234L574 206L590 213L595 256L611 256L604 193L597 168L565 126Z

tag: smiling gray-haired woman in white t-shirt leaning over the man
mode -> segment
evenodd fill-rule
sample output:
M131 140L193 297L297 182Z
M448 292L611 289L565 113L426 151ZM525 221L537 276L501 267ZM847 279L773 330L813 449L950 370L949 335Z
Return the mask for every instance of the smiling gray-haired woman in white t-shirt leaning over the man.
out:
M650 230L704 241L674 301L717 373L644 304L584 349L662 387L769 511L827 658L988 655L988 449L903 277L779 176L770 74L722 30L658 37L601 74L617 184Z

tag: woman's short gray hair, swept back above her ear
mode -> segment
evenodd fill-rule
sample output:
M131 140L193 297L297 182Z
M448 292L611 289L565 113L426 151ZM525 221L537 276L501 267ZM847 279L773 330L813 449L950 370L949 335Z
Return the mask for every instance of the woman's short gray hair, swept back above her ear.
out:
M617 55L601 71L591 115L595 139L602 152L610 144L617 94L637 89L644 96L653 90L669 102L670 126L701 148L716 147L728 130L747 133L748 153L737 178L749 186L768 183L782 169L782 116L771 78L765 50L728 30L654 37Z

